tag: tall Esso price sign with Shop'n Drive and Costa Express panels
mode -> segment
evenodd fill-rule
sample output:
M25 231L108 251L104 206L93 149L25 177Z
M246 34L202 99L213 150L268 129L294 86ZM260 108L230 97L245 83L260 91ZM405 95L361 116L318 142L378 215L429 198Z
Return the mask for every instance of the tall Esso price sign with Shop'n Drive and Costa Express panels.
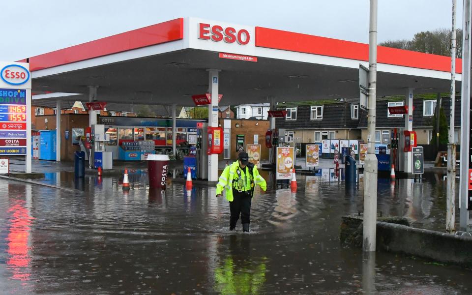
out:
M0 61L0 155L26 155L31 173L29 63Z

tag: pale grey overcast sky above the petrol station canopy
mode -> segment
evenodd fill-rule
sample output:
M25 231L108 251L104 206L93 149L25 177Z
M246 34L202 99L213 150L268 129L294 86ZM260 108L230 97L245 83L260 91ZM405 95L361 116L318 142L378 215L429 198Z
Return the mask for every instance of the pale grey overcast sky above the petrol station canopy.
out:
M457 2L457 26L462 28L462 0ZM2 22L2 39L9 41L0 46L0 60L185 16L368 42L369 0L17 0L0 6L3 15L12 16ZM451 15L452 0L379 0L379 42L450 29Z

